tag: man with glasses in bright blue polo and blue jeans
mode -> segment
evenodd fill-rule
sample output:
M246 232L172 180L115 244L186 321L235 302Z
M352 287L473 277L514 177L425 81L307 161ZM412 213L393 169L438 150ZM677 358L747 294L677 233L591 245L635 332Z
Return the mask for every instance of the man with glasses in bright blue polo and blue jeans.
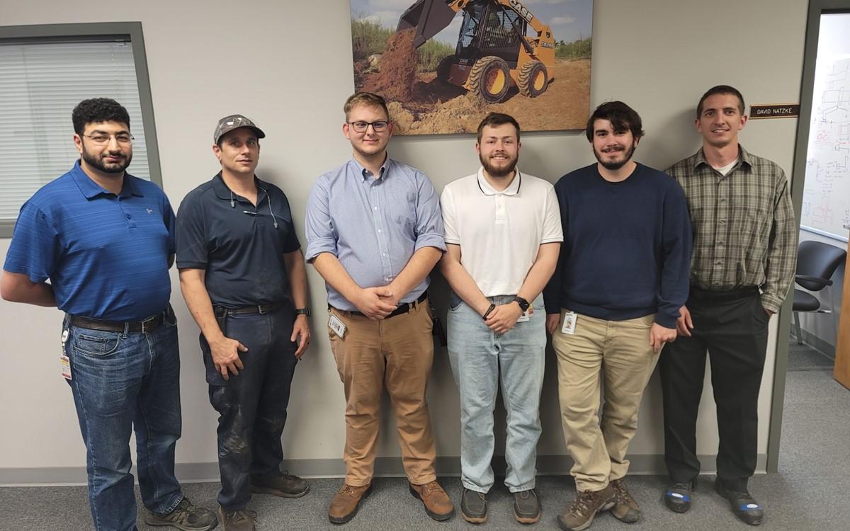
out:
M133 158L127 110L112 99L86 99L72 120L80 160L21 207L0 294L66 314L62 374L86 444L94 528L135 528L129 448L135 429L139 490L150 511L145 522L211 529L215 515L193 506L174 477L180 437L180 359L168 305L174 213L161 189L125 172Z

